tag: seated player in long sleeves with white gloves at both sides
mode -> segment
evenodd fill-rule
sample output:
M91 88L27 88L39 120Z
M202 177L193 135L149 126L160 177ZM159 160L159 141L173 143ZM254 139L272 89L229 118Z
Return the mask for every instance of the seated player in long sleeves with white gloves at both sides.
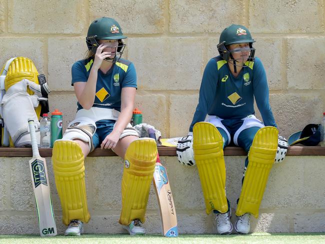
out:
M189 133L176 148L180 162L196 163L206 213L213 210L220 234L230 234L233 228L225 192L223 148L232 141L248 152L235 211L234 229L240 234L249 232L250 215L258 216L274 158L283 160L287 148L285 139L278 137L265 70L254 57L253 42L242 25L232 24L221 32L219 55L206 64ZM263 122L254 115L254 97Z

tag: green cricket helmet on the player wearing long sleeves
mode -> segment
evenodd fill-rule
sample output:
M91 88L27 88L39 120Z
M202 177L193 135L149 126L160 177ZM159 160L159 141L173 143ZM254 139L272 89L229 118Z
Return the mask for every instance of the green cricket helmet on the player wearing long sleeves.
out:
M233 51L228 50L228 45L237 43L249 43L250 54L248 57L248 61L253 61L255 54L255 48L252 44L253 42L255 42L255 40L251 37L249 30L245 26L239 24L231 24L221 32L217 48L220 56L224 60L228 61L229 56L231 59L233 59ZM235 62L236 60L234 60L234 63Z

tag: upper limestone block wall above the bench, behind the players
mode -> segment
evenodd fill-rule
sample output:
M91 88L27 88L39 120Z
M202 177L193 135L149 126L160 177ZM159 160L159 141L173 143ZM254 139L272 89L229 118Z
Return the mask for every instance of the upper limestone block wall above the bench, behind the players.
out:
M204 66L231 23L246 25L256 40L280 133L320 122L323 0L0 0L0 64L31 58L47 76L50 109L63 111L64 128L76 110L71 66L84 57L88 25L100 16L115 18L128 36L124 58L137 70L136 106L164 137L187 132Z

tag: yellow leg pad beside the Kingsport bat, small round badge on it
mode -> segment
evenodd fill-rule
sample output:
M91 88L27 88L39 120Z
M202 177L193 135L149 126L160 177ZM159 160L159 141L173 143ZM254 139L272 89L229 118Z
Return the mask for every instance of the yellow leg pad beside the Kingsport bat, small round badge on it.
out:
M143 223L149 190L157 158L154 139L132 141L126 152L122 176L122 210L120 224L129 224L138 218Z

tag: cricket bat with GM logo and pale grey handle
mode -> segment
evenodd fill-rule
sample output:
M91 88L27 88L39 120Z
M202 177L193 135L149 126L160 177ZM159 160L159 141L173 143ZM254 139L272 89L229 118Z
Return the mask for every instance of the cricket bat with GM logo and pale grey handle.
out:
M40 157L33 120L28 119L32 158L29 160L32 188L34 190L36 212L40 236L56 235L56 225L49 189L45 158Z

